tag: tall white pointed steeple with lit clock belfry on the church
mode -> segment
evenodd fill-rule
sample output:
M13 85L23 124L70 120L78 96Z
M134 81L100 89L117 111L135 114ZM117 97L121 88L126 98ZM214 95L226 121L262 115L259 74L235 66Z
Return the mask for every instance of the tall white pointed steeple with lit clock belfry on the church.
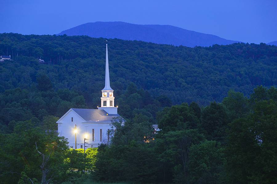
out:
M105 87L102 89L101 107L108 114L117 114L117 107L114 107L114 90L110 87L109 59L108 59L108 44L106 44L106 72L105 72Z

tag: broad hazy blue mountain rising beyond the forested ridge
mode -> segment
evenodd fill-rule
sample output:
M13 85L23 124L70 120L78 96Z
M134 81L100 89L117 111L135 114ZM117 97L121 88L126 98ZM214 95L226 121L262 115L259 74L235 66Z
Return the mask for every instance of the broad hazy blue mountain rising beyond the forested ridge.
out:
M141 40L157 44L183 45L187 47L227 45L239 41L226 40L219 36L189 31L171 25L137 25L126 22L93 22L78 25L58 35L87 35L94 38L118 38Z

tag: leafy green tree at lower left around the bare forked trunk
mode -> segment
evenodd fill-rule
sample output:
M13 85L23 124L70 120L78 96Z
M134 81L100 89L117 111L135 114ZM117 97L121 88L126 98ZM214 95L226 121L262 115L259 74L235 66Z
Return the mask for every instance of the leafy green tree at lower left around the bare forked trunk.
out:
M68 142L37 125L36 121L17 122L13 133L1 135L6 137L0 142L0 163L6 161L5 165L0 164L0 170L6 173L0 176L3 183L18 182L22 171L43 183L61 181L61 173L67 170L63 161Z

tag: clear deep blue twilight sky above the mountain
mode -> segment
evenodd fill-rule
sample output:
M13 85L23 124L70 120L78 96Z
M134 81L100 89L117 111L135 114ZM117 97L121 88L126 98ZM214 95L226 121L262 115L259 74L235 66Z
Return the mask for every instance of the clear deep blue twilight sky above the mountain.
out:
M276 0L0 0L0 33L57 34L95 21L174 25L228 40L277 40Z

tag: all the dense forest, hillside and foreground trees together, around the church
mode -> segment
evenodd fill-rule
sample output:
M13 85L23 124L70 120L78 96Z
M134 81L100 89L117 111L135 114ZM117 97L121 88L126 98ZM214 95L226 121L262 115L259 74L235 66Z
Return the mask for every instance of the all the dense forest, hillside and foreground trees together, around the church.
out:
M277 182L276 46L108 40L126 122L115 119L111 143L84 154L56 135L55 122L71 107L100 104L105 44L0 34L0 54L12 59L0 63L2 183Z

